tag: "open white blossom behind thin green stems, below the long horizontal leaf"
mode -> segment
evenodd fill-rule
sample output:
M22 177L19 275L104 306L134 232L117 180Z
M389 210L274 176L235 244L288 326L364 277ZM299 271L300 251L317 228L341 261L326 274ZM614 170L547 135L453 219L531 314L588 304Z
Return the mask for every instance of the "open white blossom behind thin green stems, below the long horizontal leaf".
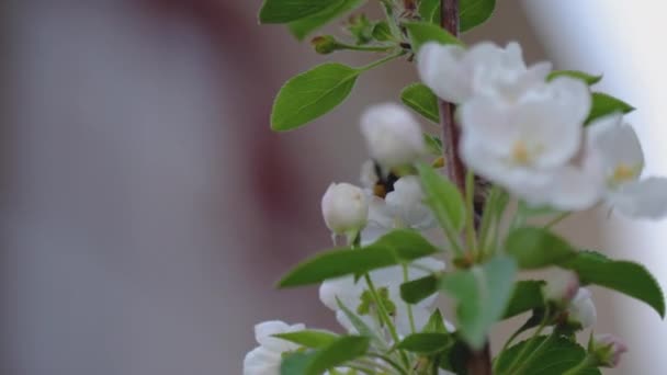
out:
M415 264L434 272L442 271L444 269L444 263L433 258L419 259L415 261ZM423 277L428 274L429 273L423 270L414 268L408 270L409 280ZM404 283L403 268L397 265L372 271L370 276L376 289L386 289L388 299L396 307L393 319L398 334L406 336L411 333L408 305L400 298L400 284ZM355 329L347 318L346 314L340 310L337 298L340 299L340 302L347 308L357 312L359 306L362 304L364 292L366 291L368 285L363 279L360 279L357 282L354 281L353 276L327 280L319 287L319 299L325 306L336 311L336 318L342 327L344 327L349 332L354 333ZM436 298L437 296L433 295L425 300L421 300L419 304L412 305L412 316L417 329L423 327L423 325L426 325L430 317L429 307L434 303ZM377 330L381 329L375 317L371 314L363 314L360 317L370 327Z

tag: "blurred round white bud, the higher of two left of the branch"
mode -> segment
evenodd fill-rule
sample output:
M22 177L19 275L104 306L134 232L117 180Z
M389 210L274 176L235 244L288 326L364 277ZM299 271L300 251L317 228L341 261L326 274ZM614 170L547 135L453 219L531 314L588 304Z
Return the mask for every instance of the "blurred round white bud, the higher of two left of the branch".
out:
M387 170L414 162L426 150L419 123L398 104L369 107L361 116L361 133L371 157Z

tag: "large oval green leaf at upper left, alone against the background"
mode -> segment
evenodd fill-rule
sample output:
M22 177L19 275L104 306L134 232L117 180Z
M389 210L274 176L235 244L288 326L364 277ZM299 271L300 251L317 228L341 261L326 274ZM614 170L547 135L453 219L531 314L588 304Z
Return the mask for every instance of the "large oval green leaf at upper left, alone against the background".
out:
M342 64L323 64L290 79L271 111L271 128L285 132L326 114L352 91L360 70Z

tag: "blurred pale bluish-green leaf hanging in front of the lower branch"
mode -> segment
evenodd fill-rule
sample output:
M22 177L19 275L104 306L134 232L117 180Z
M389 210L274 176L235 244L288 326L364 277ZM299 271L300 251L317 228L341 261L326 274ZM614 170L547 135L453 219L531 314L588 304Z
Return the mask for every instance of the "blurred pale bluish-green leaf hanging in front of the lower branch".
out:
M441 288L456 300L459 333L473 349L482 349L489 328L502 317L515 287L517 264L507 257L456 271Z

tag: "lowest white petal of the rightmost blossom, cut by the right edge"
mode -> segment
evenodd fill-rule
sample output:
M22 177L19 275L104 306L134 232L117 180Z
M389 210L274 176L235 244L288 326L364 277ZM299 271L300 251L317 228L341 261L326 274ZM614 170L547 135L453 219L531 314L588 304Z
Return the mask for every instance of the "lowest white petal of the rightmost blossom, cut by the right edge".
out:
M667 216L667 178L629 182L610 195L621 214L634 218L660 219Z

